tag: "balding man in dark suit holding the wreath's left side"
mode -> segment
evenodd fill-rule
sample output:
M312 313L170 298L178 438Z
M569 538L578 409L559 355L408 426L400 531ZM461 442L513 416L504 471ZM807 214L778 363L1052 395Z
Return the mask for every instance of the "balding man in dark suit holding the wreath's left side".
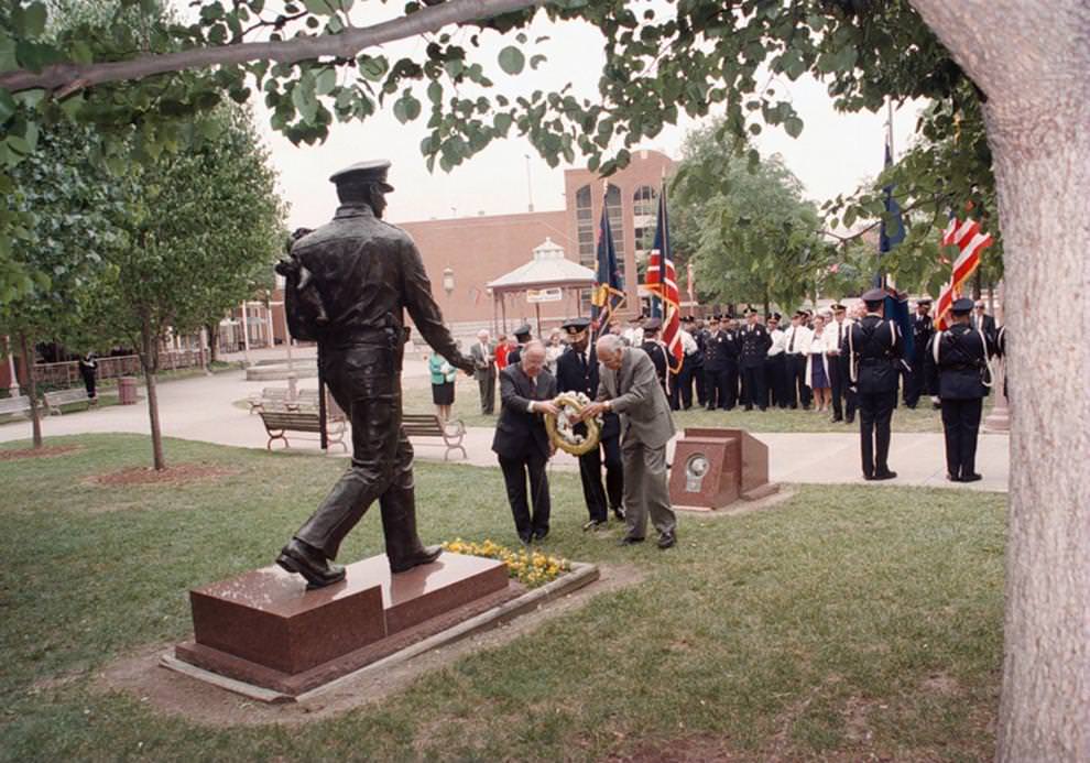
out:
M523 543L548 535L548 478L545 464L553 446L545 432L543 414L557 414L553 405L556 379L545 370L545 346L536 340L522 348L522 359L500 371L500 419L492 438L492 450L500 457L508 502L515 531ZM526 495L530 478L531 501Z

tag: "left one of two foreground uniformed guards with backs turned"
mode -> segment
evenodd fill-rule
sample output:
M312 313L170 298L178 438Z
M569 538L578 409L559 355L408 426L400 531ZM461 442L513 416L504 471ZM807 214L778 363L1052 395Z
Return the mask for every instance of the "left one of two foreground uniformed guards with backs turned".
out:
M863 294L866 314L848 329L848 363L850 381L859 400L860 454L863 477L890 480L890 421L897 406L901 383L901 359L904 340L893 320L885 320L885 291L872 288ZM829 329L826 329L829 330Z

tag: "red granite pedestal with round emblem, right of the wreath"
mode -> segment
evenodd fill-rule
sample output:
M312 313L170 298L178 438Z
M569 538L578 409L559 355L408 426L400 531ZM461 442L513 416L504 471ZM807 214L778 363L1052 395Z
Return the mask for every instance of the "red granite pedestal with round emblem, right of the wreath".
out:
M769 446L743 429L687 427L674 448L669 498L674 509L712 511L771 495Z

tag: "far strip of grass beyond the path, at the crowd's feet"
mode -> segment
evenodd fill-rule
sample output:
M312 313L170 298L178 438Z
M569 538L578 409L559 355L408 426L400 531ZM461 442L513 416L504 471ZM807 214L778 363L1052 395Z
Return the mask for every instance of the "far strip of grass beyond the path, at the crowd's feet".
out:
M435 413L432 403L432 388L421 386L421 380L413 380L404 386L404 408L406 413ZM991 410L991 397L984 401L987 410ZM497 385L495 411L499 414L499 385ZM480 392L473 379L458 377L455 386L454 417L460 418L466 426L495 426L495 416L481 415ZM829 421L831 414L818 414L813 411L767 411L745 412L705 411L694 407L690 411L674 413L674 423L678 428L686 426L719 426L746 429L748 432L859 432L859 424L833 424ZM915 411L903 405L893 414L894 432L942 432L942 419L938 411L930 406L930 401L924 397Z

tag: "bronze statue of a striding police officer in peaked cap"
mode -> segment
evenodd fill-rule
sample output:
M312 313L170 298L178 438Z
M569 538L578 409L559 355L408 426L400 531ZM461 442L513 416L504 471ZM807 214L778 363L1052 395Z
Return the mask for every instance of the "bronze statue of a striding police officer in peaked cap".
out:
M392 573L434 562L442 552L416 534L413 448L401 426L404 310L453 366L471 372L473 363L443 325L416 244L381 220L385 194L393 190L389 167L362 162L333 175L340 199L333 221L292 247L297 272L320 299L314 334L323 374L352 424L351 468L276 558L310 587L345 578L345 568L331 560L375 499Z

